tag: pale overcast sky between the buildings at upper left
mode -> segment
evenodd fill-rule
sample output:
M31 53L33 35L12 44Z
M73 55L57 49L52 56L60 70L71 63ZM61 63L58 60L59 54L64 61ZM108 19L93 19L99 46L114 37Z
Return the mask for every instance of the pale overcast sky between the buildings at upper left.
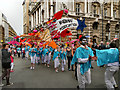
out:
M7 17L8 23L18 35L23 33L23 1L0 0L0 11Z

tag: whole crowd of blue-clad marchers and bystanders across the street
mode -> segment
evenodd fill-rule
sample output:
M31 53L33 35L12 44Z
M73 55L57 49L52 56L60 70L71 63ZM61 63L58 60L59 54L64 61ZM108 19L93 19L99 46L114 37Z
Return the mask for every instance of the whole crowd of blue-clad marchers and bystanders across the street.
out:
M72 46L74 44L74 47ZM114 55L115 54L115 55ZM61 64L62 72L65 71L66 61L68 63L68 70L75 71L76 80L78 80L79 89L84 89L86 84L91 83L91 72L93 68L91 61L96 61L100 67L106 65L105 83L109 90L114 90L117 84L114 79L114 74L119 70L119 51L114 42L107 42L105 45L101 41L100 45L96 42L89 42L86 37L81 37L80 42L75 41L69 43L67 47L64 44L58 44L56 49L53 49L49 45L40 47L32 45L13 46L3 44L2 48L2 68L3 74L1 80L6 77L7 85L13 83L9 82L10 72L14 67L14 56L18 56L24 59L31 59L31 70L35 69L36 64L44 64L48 68L51 66L51 61L54 62L55 72L59 71ZM108 55L108 56L105 56ZM112 58L109 58L110 55ZM8 59L9 58L9 59ZM103 60L104 59L104 60ZM106 59L106 61L105 61ZM74 65L75 64L75 65Z

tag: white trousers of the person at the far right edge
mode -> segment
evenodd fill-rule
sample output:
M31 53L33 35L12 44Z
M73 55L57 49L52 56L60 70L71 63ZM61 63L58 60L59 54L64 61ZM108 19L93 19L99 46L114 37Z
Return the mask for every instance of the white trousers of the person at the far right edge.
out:
M119 70L118 66L110 66L106 68L105 71L105 84L108 90L114 90L114 86L116 85L116 81L114 79L115 73Z

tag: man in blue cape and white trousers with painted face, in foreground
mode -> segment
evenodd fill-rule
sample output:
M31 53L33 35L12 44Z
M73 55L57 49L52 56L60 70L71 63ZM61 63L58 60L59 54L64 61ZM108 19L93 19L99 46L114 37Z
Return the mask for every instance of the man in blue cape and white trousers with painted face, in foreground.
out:
M71 65L77 62L77 77L78 86L80 90L84 90L86 84L91 83L91 59L94 59L94 54L91 48L87 46L87 38L82 36L80 38L80 47L78 47L74 53Z

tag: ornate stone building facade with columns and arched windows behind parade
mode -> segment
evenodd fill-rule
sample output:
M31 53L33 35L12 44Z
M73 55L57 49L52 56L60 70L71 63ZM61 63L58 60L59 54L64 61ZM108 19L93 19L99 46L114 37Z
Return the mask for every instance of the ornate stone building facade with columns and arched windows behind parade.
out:
M64 17L85 18L87 27L83 34L89 35L89 40L99 43L120 38L120 0L30 0L29 3L29 31L43 26L56 12L68 9ZM81 34L80 30L71 30L73 39Z

